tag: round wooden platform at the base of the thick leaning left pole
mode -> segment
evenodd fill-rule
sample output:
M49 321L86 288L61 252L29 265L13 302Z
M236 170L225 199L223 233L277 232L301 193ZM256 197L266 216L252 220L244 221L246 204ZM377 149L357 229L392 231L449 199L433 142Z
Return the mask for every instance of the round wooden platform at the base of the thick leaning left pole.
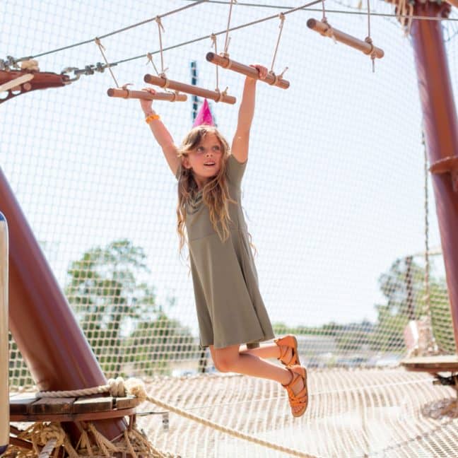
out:
M136 397L11 397L10 421L89 421L135 414Z

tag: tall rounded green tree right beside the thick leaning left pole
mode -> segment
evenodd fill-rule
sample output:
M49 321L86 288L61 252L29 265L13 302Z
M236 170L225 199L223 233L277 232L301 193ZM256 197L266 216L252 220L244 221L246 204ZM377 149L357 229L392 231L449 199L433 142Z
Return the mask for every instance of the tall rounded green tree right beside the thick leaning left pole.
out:
M134 329L141 312L153 319L158 307L152 287L138 283L148 272L146 255L129 240L95 247L71 263L65 292L102 370L119 374L122 338Z

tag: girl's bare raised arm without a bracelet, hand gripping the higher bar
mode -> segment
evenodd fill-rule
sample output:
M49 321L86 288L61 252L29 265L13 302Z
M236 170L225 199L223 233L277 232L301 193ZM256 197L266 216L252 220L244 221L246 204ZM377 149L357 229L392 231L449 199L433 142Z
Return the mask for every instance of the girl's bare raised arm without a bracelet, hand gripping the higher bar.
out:
M264 79L267 75L266 67L262 65L251 65L259 72L259 78ZM251 128L254 116L254 101L256 95L257 80L253 78L245 79L243 86L242 102L240 102L237 130L235 131L231 151L240 163L245 163L248 159L249 129Z

